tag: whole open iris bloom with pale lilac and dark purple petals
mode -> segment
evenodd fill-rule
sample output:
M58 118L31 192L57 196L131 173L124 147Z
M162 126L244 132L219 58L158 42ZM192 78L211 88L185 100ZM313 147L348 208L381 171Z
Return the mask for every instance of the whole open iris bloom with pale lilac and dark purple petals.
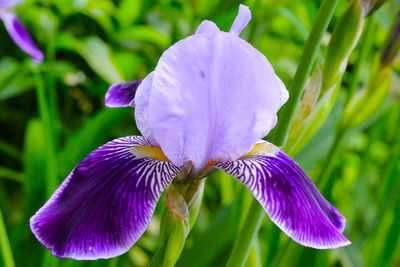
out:
M31 218L55 256L123 254L174 179L190 183L218 169L245 185L294 241L318 249L350 244L345 218L297 163L262 140L288 92L268 60L239 38L250 19L241 5L229 32L205 20L143 80L110 87L106 106L135 106L143 136L91 152Z

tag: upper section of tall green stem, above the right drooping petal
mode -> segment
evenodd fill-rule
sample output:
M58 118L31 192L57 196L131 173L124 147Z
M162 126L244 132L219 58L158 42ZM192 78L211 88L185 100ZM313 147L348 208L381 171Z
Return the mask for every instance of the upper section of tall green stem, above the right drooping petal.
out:
M304 86L314 65L322 36L328 27L338 1L339 0L324 0L318 11L293 79L292 88L289 92L289 100L280 112L279 123L275 129L274 135L274 143L278 146L283 146L286 143L290 127L292 126L295 113L304 92Z

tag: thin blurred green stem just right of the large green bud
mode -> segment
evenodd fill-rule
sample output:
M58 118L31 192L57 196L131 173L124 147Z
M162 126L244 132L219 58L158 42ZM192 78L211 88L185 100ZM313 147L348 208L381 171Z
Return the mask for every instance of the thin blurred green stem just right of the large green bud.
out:
M360 56L358 58L357 65L353 73L353 79L350 84L349 94L347 96L346 102L349 102L349 100L353 98L355 92L357 91L357 87L360 81L361 69L364 66L365 61L367 60L369 51L371 49L375 31L374 26L375 26L374 15L371 15L367 23L365 36L361 45Z

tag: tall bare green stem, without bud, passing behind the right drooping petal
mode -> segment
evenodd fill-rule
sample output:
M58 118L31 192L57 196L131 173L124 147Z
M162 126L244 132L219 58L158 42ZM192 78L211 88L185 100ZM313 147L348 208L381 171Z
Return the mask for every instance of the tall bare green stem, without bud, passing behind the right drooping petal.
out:
M310 76L312 66L314 65L322 36L328 27L329 21L331 20L338 1L339 0L324 0L321 4L321 8L318 11L293 80L293 87L290 90L289 101L283 107L283 110L280 114L281 116L279 123L273 136L273 141L278 146L283 146L287 140L290 127L294 120L295 112L304 92L306 80ZM245 223L242 226L239 236L234 244L227 266L236 267L244 265L254 236L258 233L260 228L264 213L264 209L261 207L258 201L253 199L250 209L247 213Z

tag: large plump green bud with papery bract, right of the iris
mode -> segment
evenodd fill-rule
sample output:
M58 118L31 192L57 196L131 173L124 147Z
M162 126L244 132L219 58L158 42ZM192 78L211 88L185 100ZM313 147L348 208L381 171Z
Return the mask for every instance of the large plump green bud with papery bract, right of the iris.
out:
M285 147L289 155L296 155L311 140L331 112L349 56L358 43L368 14L370 13L365 8L365 1L352 0L348 3L328 45L322 68L321 89L312 89L316 93L321 92L319 101L308 114L297 114L296 121L301 123L294 125L289 134ZM308 90L310 89L306 89ZM309 95L305 94L302 102L307 102L308 97Z

